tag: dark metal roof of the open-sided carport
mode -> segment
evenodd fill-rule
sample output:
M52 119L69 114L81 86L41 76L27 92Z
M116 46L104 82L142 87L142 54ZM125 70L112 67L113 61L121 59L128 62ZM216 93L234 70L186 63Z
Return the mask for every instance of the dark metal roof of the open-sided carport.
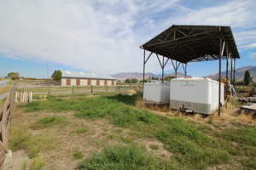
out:
M182 63L218 59L220 37L226 41L232 58L239 59L230 26L173 25L144 43L141 48ZM223 59L227 53L224 50Z

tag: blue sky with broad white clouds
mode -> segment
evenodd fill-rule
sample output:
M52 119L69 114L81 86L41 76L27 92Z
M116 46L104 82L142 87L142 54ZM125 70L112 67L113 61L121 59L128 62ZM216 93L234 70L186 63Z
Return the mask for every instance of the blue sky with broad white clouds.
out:
M172 25L231 26L237 67L256 65L255 8L255 0L0 0L0 77L142 72L139 46ZM146 71L160 73L155 57ZM216 61L188 65L192 76L216 72Z

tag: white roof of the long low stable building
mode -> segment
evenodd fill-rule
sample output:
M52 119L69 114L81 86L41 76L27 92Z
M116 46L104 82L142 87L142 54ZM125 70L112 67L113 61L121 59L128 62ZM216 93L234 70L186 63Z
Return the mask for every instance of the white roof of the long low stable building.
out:
M95 79L108 79L115 80L115 78L108 75L99 75L95 73L84 73L81 71L61 71L62 77L74 77L74 78L95 78Z

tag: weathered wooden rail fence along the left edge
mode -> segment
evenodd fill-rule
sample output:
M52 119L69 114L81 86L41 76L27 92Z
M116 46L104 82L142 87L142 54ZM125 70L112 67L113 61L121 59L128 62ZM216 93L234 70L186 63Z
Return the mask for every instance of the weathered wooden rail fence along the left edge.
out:
M14 89L9 89L3 108L0 109L0 170L3 170L3 162L9 150L9 127L14 107Z

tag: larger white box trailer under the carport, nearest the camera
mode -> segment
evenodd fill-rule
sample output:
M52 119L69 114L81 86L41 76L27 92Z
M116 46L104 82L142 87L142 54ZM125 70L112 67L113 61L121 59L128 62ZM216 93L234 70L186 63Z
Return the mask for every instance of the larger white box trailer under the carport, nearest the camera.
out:
M221 83L224 105L224 84ZM218 82L210 78L175 78L170 83L170 108L189 109L210 115L218 110Z

